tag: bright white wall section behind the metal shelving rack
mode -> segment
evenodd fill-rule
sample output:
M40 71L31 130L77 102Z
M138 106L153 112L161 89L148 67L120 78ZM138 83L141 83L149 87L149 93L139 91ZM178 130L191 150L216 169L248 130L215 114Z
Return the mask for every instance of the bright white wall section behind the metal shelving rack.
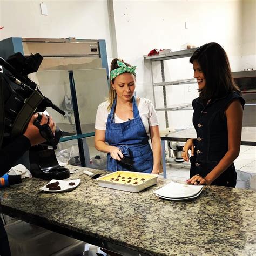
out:
M223 45L230 57L233 71L240 70L241 61L241 1L119 1L114 0L117 51L132 65L137 65L137 94L152 100L149 62L143 55L150 50L180 50L189 42L200 46L207 42ZM188 21L188 29L185 29ZM154 82L161 82L159 63L154 65ZM188 58L165 61L165 80L192 78ZM197 85L169 86L167 104L191 103L197 97ZM163 93L156 93L157 106L163 106ZM164 113L159 113L160 127L165 127ZM169 126L192 124L192 111L169 112Z

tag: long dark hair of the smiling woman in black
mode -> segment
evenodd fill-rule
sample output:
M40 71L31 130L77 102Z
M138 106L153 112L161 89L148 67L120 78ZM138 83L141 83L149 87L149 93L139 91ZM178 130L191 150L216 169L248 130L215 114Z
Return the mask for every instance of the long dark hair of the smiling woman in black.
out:
M198 90L201 100L221 98L232 91L240 92L232 78L227 53L218 43L200 46L191 56L190 62L193 64L195 60L206 79L205 87Z

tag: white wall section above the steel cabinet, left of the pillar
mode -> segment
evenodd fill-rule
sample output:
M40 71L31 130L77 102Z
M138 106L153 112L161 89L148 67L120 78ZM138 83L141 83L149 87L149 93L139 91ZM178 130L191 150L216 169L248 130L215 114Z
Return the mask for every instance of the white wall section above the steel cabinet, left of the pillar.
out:
M44 2L48 15L41 15ZM66 38L105 39L111 56L106 0L0 0L0 39Z

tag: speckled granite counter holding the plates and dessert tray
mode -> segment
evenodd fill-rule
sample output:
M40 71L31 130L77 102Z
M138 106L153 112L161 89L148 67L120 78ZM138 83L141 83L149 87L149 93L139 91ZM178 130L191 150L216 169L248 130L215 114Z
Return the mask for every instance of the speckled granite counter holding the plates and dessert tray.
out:
M75 190L42 192L47 181L28 179L1 189L1 211L99 246L116 245L125 255L256 254L255 191L205 186L193 201L167 201L153 191L170 180L131 193L99 187L84 168L69 168L78 168L69 179L81 178Z

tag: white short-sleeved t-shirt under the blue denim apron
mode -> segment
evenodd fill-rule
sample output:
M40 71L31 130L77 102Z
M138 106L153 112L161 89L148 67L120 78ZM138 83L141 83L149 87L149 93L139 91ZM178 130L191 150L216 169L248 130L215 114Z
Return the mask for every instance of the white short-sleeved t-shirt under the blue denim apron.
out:
M140 118L142 118L142 122L145 126L146 132L149 135L149 127L150 126L156 126L158 125L158 118L156 110L154 109L153 104L150 100L145 98L139 98L139 115ZM107 110L107 106L109 106L109 102L103 102L100 103L98 106L97 114L96 114L96 120L95 120L95 129L97 130L106 130L106 122L107 122L107 116L110 113L110 110ZM124 123L127 120L120 119L116 114L114 114L114 122Z

